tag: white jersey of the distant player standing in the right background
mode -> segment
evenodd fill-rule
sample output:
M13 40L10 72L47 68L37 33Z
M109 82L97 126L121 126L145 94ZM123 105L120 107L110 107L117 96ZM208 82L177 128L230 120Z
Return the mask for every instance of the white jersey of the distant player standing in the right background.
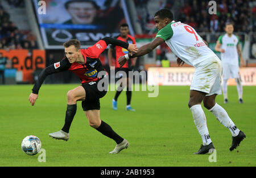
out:
M239 43L239 38L233 34L230 37L228 34L225 34L218 38L218 42L221 44L221 48L225 50L225 52L221 53L222 63L238 66L237 45Z

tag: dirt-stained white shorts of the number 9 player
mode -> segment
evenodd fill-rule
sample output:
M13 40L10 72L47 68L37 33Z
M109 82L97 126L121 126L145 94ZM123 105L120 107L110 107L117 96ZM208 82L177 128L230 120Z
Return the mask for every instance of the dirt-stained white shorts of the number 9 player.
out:
M190 90L207 93L206 96L221 94L222 68L221 60L217 56L197 64Z

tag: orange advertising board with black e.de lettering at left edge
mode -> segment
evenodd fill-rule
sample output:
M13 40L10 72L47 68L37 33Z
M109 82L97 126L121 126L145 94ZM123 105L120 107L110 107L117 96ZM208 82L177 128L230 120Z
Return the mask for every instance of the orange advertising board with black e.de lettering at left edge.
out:
M22 71L24 82L34 82L32 73L36 69L46 68L46 52L44 50L34 49L30 53L27 49L10 51L0 49L0 53L11 60L10 68Z

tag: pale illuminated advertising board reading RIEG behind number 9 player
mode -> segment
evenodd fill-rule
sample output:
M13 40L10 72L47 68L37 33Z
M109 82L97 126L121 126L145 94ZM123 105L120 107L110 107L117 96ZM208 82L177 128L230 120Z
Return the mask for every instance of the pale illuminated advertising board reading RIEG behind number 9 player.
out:
M148 85L191 85L195 68L171 67L171 68L148 68ZM242 85L256 86L256 68L240 68ZM229 79L228 85L236 85L234 79Z

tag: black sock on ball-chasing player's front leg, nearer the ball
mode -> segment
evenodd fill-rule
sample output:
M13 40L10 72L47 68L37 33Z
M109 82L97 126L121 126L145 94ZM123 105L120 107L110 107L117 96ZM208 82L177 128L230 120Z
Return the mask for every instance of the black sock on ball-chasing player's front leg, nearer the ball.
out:
M65 116L65 124L61 130L63 130L66 133L69 133L69 128L71 126L71 123L73 121L73 118L76 114L76 104L75 105L68 105L66 116Z

